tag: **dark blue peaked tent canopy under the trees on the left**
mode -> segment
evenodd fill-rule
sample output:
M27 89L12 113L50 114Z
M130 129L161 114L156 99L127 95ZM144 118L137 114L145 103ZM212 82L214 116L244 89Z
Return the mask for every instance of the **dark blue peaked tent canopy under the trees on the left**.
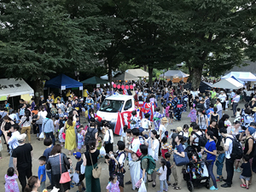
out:
M79 81L76 81L75 79L67 77L67 75L65 74L60 74L54 79L50 79L49 81L46 81L44 84L44 87L58 88L58 89L61 89L61 86L66 86L66 89L67 89L67 88L80 87L80 86L83 86L83 84Z

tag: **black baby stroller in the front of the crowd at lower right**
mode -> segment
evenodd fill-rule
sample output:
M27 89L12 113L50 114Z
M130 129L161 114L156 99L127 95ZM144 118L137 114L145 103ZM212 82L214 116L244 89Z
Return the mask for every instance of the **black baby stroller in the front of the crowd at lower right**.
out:
M185 152L187 152L190 162L185 166L185 168L183 168L183 179L187 182L187 188L189 191L193 191L195 187L201 186L205 186L207 189L210 189L210 176L207 170L204 169L207 169L206 166L212 163L212 160L200 160L195 148L191 146L188 146L185 149ZM194 159L192 158L193 154L195 154ZM201 168L201 172L203 172L203 174L201 175L200 172L195 172L195 178L193 177L192 170L196 170L198 167Z

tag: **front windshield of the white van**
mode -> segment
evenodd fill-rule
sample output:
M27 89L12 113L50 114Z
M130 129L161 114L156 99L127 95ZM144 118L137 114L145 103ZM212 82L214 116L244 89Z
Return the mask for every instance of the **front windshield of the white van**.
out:
M124 101L105 99L104 102L102 102L100 111L110 113L121 112L123 105Z

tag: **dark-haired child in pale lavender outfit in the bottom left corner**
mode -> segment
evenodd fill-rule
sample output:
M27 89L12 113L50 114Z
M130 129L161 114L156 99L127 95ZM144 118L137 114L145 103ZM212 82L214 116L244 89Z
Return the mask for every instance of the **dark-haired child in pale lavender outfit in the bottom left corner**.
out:
M5 178L5 192L20 192L18 183L15 179L18 178L18 176L15 174L15 169L13 167L9 167L7 170L7 174L4 176Z

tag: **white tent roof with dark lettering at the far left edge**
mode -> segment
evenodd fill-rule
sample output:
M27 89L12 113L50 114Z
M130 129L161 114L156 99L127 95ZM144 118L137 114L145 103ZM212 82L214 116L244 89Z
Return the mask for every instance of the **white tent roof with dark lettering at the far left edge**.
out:
M0 79L0 96L34 96L34 90L23 79Z

